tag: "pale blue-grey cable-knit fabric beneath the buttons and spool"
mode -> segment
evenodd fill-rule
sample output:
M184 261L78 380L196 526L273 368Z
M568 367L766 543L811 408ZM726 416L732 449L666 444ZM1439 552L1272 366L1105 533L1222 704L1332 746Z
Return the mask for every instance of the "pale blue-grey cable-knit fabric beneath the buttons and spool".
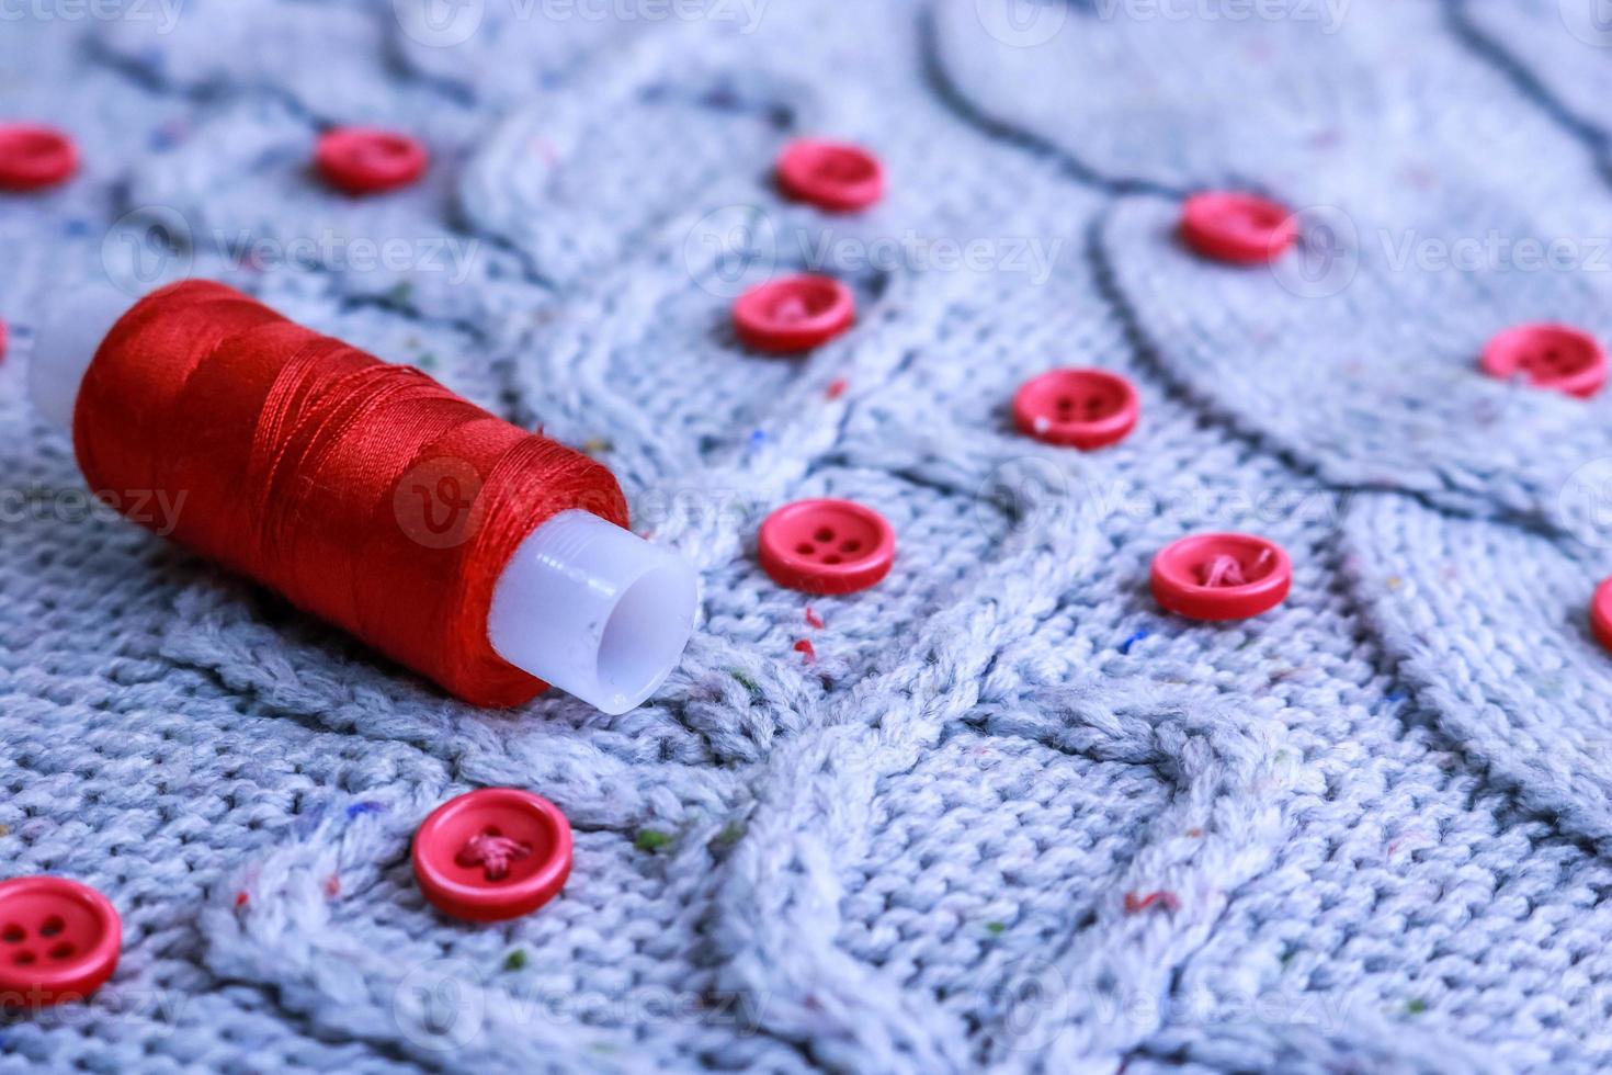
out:
M0 31L6 116L84 158L0 195L0 878L95 885L126 943L0 1012L0 1073L1612 1065L1612 395L1477 371L1522 321L1612 340L1591 0L69 8ZM330 124L432 168L334 193ZM808 134L885 200L783 200ZM1222 187L1298 248L1191 255ZM856 327L748 353L732 300L800 271ZM92 509L34 326L185 274L609 464L701 572L666 687L477 711ZM1020 435L1059 366L1138 429ZM879 587L759 569L808 496L893 524ZM1203 530L1278 542L1288 601L1162 612ZM571 880L453 922L409 841L500 785Z

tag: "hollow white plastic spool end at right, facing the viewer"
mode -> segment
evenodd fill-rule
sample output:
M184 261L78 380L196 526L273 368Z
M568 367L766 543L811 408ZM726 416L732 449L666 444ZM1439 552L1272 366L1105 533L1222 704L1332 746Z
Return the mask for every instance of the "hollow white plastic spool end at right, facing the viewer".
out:
M563 511L516 548L493 587L487 638L509 664L601 712L666 682L695 627L695 571L587 511Z

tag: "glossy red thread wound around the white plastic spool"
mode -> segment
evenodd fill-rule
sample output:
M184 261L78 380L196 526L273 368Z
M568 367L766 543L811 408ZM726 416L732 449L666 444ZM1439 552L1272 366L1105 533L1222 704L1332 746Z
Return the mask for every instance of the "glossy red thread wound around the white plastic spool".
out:
M118 321L73 437L90 488L169 496L174 538L480 706L546 687L487 640L516 546L572 508L627 525L598 463L208 280Z

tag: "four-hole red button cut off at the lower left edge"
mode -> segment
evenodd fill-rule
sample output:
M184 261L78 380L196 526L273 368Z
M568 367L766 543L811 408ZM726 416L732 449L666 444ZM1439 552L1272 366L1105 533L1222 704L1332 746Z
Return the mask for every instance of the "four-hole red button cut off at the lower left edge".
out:
M64 877L0 882L0 1007L82 1001L118 969L123 919Z

